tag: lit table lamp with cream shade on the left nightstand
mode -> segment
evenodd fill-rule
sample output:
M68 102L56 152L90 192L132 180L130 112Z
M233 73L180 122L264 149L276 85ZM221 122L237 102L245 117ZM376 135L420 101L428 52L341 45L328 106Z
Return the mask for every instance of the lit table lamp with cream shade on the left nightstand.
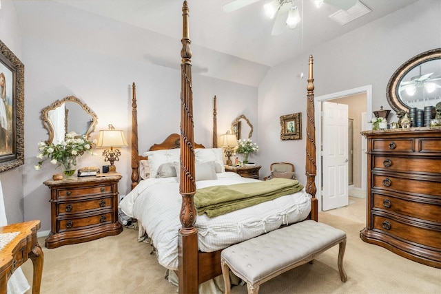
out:
M121 156L121 151L113 148L124 146L128 145L123 131L115 129L113 125L109 125L109 129L99 131L96 148L110 148L103 151L104 161L110 162L109 171L116 171L114 162L119 161L119 156Z

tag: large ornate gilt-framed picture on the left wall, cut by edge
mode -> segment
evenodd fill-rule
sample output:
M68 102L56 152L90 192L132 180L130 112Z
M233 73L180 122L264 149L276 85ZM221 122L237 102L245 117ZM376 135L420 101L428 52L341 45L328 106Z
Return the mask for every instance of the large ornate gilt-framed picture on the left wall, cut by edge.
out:
M24 164L24 65L0 41L0 173Z

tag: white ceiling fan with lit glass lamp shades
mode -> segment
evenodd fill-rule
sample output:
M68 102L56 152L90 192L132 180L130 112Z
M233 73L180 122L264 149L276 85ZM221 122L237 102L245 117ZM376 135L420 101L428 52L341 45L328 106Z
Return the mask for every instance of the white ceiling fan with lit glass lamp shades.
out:
M227 13L233 12L258 1L260 0L236 0L225 4L223 11ZM314 0L317 7L320 7L322 3L328 3L342 10L348 10L356 5L357 1L358 0ZM271 0L269 2L267 1L264 5L265 14L271 19L276 17L271 31L272 35L282 34L286 26L294 29L297 27L297 24L300 23L300 14L294 2L295 0Z

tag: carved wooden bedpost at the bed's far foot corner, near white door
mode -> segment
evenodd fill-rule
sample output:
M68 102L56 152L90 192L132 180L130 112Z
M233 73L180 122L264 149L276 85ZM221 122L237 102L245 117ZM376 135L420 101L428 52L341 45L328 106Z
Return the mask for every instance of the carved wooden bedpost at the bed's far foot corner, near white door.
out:
M309 76L307 85L307 127L306 127L306 176L307 184L306 191L312 196L311 207L314 206L316 209L311 209L311 220L318 220L318 202L316 198L316 123L314 119L314 77L312 65L314 59L312 55L309 55Z

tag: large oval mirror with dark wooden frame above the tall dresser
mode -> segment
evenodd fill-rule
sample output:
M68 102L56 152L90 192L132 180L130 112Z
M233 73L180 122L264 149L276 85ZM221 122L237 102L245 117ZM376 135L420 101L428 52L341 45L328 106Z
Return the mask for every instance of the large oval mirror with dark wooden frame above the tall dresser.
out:
M393 73L387 101L396 112L424 109L441 101L441 48L412 57Z

